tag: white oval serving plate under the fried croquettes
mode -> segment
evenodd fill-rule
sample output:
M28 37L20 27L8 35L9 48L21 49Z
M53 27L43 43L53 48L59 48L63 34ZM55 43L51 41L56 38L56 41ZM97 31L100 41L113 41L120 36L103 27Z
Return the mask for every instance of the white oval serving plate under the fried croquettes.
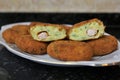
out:
M47 64L47 65L54 65L54 66L111 66L111 65L118 65L120 63L120 43L118 41L118 50L112 52L111 54L105 55L105 56L98 56L98 57L93 57L91 61L60 61L54 58L51 58L49 55L32 55L25 53L21 50L19 50L15 44L8 44L4 41L2 38L2 32L6 30L7 28L10 28L13 25L16 24L26 24L29 25L30 22L22 22L22 23L13 23L13 24L8 24L4 25L1 27L0 31L0 43L4 45L10 52L29 59L34 62L42 63L42 64ZM107 33L105 33L107 34Z

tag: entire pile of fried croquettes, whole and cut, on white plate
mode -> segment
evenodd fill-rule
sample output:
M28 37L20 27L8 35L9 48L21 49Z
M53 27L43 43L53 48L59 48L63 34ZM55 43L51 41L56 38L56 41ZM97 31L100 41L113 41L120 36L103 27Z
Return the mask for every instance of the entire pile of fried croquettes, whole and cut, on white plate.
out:
M90 61L94 56L107 55L118 49L117 39L105 35L104 31L103 22L95 18L72 27L42 22L15 25L4 30L2 37L32 55L46 54L62 61Z

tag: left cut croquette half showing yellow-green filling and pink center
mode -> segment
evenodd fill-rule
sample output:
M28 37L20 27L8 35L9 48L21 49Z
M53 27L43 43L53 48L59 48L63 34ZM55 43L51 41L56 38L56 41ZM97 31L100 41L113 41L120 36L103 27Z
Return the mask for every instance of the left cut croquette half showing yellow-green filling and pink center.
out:
M30 34L38 41L54 41L66 38L66 29L63 25L39 23L30 27Z

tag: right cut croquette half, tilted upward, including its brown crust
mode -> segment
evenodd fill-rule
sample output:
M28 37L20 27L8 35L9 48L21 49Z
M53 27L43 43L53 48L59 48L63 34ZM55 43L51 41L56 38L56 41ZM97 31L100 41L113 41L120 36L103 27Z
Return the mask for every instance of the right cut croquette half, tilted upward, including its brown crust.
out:
M69 31L69 39L84 41L97 39L104 34L105 26L99 19L91 19L76 23Z

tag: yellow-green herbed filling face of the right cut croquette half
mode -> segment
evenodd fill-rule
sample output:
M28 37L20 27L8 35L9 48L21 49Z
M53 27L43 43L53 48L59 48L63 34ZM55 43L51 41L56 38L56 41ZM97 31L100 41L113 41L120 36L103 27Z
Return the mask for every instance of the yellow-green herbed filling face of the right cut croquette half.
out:
M83 26L73 28L69 34L72 40L89 40L102 36L104 34L104 26L97 22L87 23Z

